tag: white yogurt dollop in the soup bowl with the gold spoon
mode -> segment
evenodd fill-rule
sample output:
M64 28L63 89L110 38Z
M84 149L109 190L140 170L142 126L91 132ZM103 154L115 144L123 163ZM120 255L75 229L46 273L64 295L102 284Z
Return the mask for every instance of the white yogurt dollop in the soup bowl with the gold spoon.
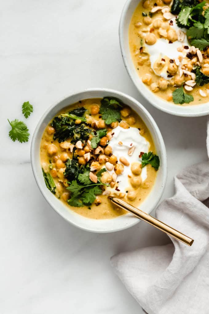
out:
M139 154L140 152L148 153L150 148L150 143L139 133L138 128L129 127L128 129L124 129L120 126L116 127L112 130L113 137L109 142L109 145L112 147L112 154L117 156L118 162L120 163L120 157L125 157L129 166L124 166L124 171L121 175L118 175L117 181L118 188L120 191L115 190L115 188L107 187L107 190L114 191L115 194L119 194L121 192L125 193L128 188L130 188L128 182L128 175L132 176L131 172L131 164L133 162L139 162ZM122 143L122 144L121 144ZM132 155L128 155L128 151L131 147L135 147ZM114 172L114 170L109 171L110 173ZM145 166L141 172L142 182L147 178L147 167Z

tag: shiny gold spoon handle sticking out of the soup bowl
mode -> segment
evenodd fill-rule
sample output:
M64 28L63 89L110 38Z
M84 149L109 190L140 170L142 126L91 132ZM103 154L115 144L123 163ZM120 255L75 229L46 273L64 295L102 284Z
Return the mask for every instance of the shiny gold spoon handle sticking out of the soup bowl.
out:
M185 236L183 233L181 233L178 230L175 230L173 228L171 228L170 226L164 224L162 221L150 216L147 213L144 213L142 210L133 207L132 205L130 205L129 203L123 201L122 199L113 197L111 198L111 201L113 204L128 210L128 212L134 214L135 216L137 216L138 218L148 222L148 224L158 228L159 230L169 234L170 236L173 236L174 238L176 238L177 240L191 246L192 243L194 242L193 239L191 239L188 236Z

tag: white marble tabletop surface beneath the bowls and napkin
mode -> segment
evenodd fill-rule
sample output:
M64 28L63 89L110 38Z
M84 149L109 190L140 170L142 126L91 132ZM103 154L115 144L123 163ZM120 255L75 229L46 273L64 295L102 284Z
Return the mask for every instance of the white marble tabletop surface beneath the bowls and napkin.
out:
M118 23L125 0L7 0L1 3L0 313L114 313L142 310L113 273L120 251L161 245L167 236L141 222L114 234L92 234L64 221L46 203L30 166L30 142L8 138L7 118L27 120L32 134L52 103L76 90L108 87L141 101L153 115L168 153L164 193L173 176L206 160L206 117L169 116L149 105L123 66ZM31 139L31 138L30 138Z

